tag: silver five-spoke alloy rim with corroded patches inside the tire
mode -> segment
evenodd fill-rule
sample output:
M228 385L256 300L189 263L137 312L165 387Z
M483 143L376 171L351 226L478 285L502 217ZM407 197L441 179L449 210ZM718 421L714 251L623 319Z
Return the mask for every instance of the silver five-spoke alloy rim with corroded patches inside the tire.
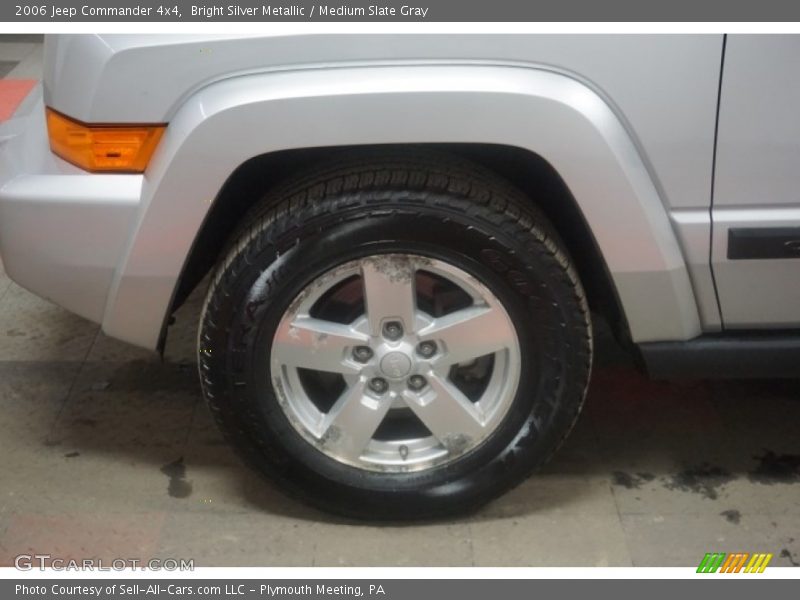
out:
M519 383L516 330L475 277L411 254L347 262L291 303L270 357L309 443L383 472L440 466L497 429Z

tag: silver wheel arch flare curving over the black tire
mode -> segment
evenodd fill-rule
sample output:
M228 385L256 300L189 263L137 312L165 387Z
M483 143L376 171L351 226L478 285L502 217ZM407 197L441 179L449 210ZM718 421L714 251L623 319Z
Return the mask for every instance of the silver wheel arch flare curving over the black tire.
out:
M700 333L687 267L642 157L587 85L535 68L416 65L254 74L181 107L145 177L103 327L155 348L211 204L246 160L296 148L484 143L530 150L574 195L635 342Z

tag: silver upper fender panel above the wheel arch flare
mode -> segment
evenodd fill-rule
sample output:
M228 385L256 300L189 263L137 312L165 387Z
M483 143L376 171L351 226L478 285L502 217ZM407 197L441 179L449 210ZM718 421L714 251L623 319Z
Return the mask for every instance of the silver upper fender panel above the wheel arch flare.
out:
M575 77L628 127L671 208L709 204L722 35L104 35L48 44L48 104L84 122L171 121L198 90L337 65L521 63ZM66 61L73 47L81 60ZM491 107L487 107L491 110Z

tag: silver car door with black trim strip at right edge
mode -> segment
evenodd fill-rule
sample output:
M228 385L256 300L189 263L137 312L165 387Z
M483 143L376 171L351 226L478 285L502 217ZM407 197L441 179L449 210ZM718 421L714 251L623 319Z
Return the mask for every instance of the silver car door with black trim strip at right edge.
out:
M712 268L726 329L800 326L800 36L725 48Z

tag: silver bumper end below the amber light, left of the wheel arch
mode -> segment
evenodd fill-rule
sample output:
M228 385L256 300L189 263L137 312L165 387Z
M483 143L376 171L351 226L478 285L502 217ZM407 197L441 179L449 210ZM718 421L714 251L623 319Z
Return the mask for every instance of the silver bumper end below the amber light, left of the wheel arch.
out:
M41 87L0 126L0 257L34 294L102 323L142 175L95 175L50 152Z

